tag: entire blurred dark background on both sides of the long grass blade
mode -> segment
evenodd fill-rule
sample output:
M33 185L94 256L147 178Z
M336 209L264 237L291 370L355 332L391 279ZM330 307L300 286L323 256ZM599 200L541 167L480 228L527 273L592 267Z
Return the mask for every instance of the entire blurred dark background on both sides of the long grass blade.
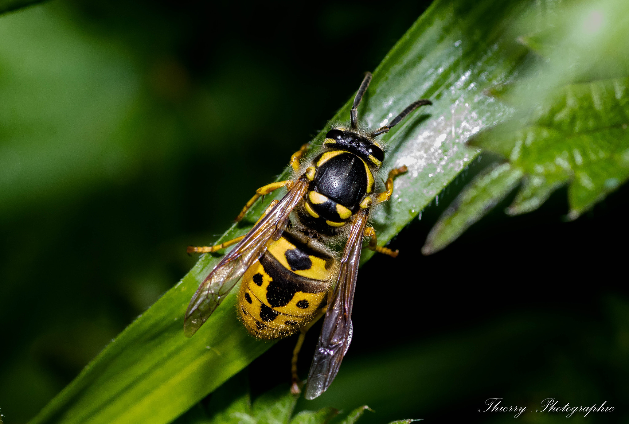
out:
M218 238L428 4L54 0L0 16L4 422L28 421L178 281L186 246ZM365 265L342 371L298 408L493 422L513 417L477 413L489 397L557 397L629 420L626 187L572 223L565 190L506 218L511 196L422 257L481 168L392 242L398 259ZM411 283L382 293L392 274ZM254 396L287 381L293 344L250 365Z

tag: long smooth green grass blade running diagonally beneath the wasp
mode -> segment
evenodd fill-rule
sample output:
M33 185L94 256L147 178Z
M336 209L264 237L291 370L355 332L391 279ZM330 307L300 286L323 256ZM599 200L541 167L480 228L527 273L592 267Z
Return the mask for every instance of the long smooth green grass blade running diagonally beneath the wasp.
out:
M433 106L411 114L383 137L388 145L385 166L407 165L409 171L396 179L391 202L374 211L381 245L476 157L479 149L466 147L467 138L512 113L483 92L507 82L525 56L526 48L506 31L528 4L435 1L374 71L359 108L367 128L383 125L417 99L433 100ZM359 82L357 75L356 86ZM348 98L356 88L348 87ZM349 109L348 102L333 121L348 120ZM315 138L313 148L328 128ZM252 193L256 188L251 187ZM256 203L220 241L247 233L273 198ZM362 260L371 255L365 250ZM219 259L203 255L31 422L168 423L269 349L273 342L255 340L238 322L237 289L192 338L184 337L182 317L189 299Z

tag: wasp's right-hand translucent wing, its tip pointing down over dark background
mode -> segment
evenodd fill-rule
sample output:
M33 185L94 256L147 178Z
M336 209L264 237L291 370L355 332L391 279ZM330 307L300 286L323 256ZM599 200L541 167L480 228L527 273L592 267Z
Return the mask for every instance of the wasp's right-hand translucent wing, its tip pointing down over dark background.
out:
M315 399L330 387L352 342L353 294L366 223L365 211L354 215L350 235L343 250L337 286L325 313L315 357L310 365L305 389L306 399Z

